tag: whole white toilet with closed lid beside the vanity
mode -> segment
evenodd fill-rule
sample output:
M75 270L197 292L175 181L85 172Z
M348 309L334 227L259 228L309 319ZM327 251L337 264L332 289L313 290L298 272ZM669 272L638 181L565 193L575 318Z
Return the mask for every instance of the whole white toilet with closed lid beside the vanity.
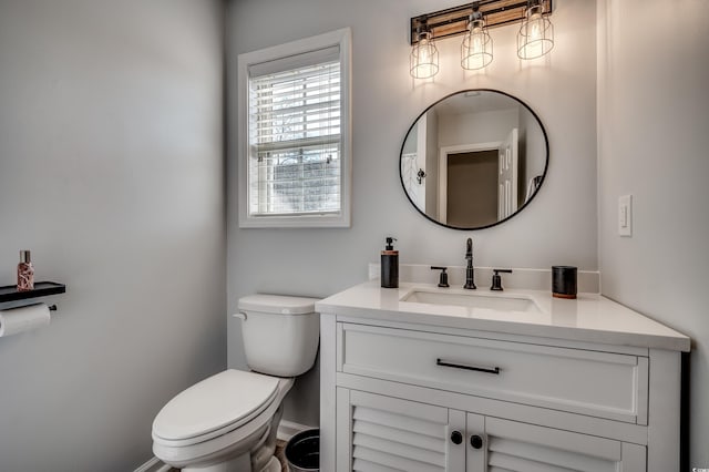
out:
M183 471L279 472L282 399L315 363L315 298L250 295L237 318L250 371L228 369L178 393L153 421L153 453Z

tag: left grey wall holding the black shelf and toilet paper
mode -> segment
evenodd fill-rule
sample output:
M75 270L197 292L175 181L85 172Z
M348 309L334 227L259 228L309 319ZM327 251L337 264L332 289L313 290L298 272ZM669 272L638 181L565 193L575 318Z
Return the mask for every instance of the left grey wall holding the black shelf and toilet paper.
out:
M129 471L224 368L223 6L0 2L0 285L68 285L0 338L0 470Z

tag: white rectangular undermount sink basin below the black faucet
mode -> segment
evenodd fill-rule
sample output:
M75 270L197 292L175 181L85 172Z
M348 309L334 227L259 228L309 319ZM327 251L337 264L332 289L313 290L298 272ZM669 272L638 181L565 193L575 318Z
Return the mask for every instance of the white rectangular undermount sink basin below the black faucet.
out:
M401 298L401 301L428 305L448 305L480 308L497 311L542 312L532 298L524 295L497 295L479 291L433 291L414 289Z

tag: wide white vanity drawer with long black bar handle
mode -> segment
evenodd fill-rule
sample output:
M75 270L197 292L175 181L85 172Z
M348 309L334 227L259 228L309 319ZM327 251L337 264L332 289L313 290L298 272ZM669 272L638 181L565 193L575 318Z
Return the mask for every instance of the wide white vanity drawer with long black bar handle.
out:
M647 424L646 357L338 324L338 371Z

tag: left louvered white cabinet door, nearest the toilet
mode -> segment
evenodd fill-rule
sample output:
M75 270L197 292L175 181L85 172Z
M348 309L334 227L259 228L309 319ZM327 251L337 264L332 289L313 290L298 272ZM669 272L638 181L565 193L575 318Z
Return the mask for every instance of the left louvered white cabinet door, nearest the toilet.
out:
M338 472L465 469L465 413L454 414L456 429L446 408L342 388L337 397Z

